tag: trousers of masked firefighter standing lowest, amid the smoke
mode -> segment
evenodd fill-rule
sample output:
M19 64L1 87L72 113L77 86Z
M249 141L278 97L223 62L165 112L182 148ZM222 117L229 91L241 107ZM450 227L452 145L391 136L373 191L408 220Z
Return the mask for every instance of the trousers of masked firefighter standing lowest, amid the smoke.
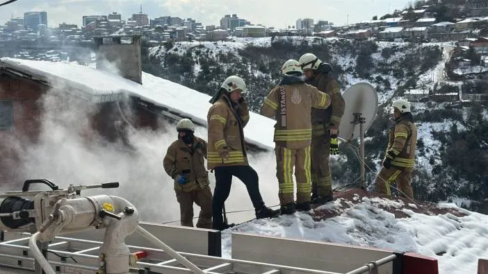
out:
M197 228L212 228L212 192L207 185L192 191L175 190L179 203L181 225L193 227L193 203L200 207Z

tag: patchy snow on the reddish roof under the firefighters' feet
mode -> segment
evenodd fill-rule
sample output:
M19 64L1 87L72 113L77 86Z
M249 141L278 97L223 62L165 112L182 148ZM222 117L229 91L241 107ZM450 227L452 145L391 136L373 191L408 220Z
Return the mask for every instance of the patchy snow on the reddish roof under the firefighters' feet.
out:
M400 208L409 218L395 219L378 205ZM451 204L443 206L457 208ZM341 201L323 207L341 210ZM417 252L437 259L441 274L476 273L478 258L488 257L488 216L460 208L457 209L467 216L428 216L416 214L409 207L416 206L364 197L340 216L323 221L314 221L302 212L250 221L222 232L222 257L231 257L234 231Z

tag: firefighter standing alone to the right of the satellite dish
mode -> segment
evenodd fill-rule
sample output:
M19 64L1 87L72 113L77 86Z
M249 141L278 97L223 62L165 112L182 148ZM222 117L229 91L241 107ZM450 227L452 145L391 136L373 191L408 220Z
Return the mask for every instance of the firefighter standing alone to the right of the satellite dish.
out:
M395 124L389 132L387 153L382 169L376 176L376 188L381 194L391 195L390 185L396 182L400 195L414 198L412 171L415 164L417 127L408 101L393 101L391 108Z

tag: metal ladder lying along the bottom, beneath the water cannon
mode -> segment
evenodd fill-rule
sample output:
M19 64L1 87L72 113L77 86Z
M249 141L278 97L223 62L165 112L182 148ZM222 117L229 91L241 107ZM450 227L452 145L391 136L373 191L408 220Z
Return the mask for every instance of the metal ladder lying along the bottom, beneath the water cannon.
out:
M29 250L29 246L22 246L23 241L26 244L29 241L29 238L24 237L21 239L14 239L3 243L0 242L0 246L22 249L22 250ZM74 257L76 258L77 261L79 261L77 264L75 264L74 262L69 264L66 262L66 260L61 261L61 259L58 257L49 256L50 258L49 263L55 266L55 269L60 269L60 267L63 266L70 267L70 268L80 268L80 269L85 269L90 271L95 271L98 269L97 268L97 266L99 265L98 256L90 255L88 253L97 252L102 242L90 241L85 239L74 239L74 238L67 238L67 237L56 237L55 241L56 242L49 244L50 251L56 252L58 255L61 256ZM51 247L56 247L56 248L54 249ZM64 248L65 250L62 250L60 248ZM76 250L76 251L66 251L66 249ZM147 252L147 257L137 262L140 268L145 268L155 273L175 273L175 274L191 273L191 271L188 268L184 266L181 267L181 264L179 264L179 262L169 257L169 255L167 255L161 249L144 248L140 246L129 246L129 249L131 250L131 252L136 252L140 250L144 250L145 252ZM3 250L3 248L0 250ZM197 254L186 253L186 252L178 252L178 253L186 257L186 259L190 260L190 262L204 269L205 273L209 273L209 274L223 274L223 273L338 274L338 273L319 271L319 270L308 269L308 268L297 268L293 266L280 266L275 264L250 262L250 261L244 261L238 259L224 259L221 257L197 255ZM4 255L3 252L0 251L0 257L2 257L3 255ZM24 256L15 256L15 258L32 259L32 258L26 258ZM51 259L51 258L55 258L55 259ZM56 266L58 266L58 268L56 268Z

